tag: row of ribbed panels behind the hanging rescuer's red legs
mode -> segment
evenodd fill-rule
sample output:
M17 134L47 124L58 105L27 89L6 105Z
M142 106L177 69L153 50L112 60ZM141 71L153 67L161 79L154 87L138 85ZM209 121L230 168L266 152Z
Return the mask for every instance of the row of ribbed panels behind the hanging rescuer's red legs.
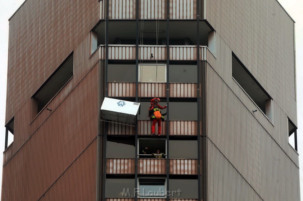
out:
M151 121L139 120L138 135L149 136L151 134ZM198 122L197 121L169 121L170 136L197 136ZM108 123L108 135L135 135L135 127L118 123ZM158 129L156 128L156 135ZM166 135L166 121L162 122L161 135Z

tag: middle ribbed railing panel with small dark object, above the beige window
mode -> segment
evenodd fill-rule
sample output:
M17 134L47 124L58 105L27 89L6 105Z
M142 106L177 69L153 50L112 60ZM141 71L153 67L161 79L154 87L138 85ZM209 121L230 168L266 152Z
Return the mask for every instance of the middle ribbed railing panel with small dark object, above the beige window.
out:
M166 46L139 46L139 60L166 60Z

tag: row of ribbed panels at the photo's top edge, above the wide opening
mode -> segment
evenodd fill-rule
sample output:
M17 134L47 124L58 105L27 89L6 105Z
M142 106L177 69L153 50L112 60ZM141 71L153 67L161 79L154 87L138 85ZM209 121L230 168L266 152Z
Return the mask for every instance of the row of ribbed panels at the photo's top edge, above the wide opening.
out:
M166 19L166 5L167 0L140 0L139 19ZM170 19L197 19L197 0L169 0L169 5ZM105 8L100 1L100 19ZM109 0L108 14L109 19L136 19L136 0Z

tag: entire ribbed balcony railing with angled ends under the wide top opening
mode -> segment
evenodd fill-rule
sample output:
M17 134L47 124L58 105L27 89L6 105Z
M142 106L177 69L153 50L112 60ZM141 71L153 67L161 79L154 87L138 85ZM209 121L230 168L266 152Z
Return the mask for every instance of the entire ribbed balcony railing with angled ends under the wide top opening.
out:
M213 57L207 46L199 46L200 61L208 61ZM140 45L139 60L166 60L166 46L164 45ZM105 59L105 45L100 45L92 54L99 59ZM108 59L110 60L135 60L135 45L108 45ZM169 46L169 59L171 61L196 61L196 45L172 45Z

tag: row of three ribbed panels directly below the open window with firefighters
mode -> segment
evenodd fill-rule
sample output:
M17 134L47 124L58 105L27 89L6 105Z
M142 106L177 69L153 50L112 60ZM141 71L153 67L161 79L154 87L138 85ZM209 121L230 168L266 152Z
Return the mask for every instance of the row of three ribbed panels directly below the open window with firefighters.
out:
M107 174L135 174L135 159L106 159ZM139 158L138 174L166 174L165 158ZM169 174L198 174L197 159L169 159Z

